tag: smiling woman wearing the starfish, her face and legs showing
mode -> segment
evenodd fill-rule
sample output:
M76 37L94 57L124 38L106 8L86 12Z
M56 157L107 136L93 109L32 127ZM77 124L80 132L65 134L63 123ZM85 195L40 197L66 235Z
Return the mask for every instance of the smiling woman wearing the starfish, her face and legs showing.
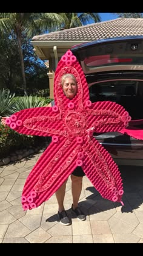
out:
M65 96L68 99L73 99L77 93L78 86L76 82L75 76L73 74L64 74L61 77L61 85ZM54 101L50 102L47 107L53 107L55 104ZM86 219L84 213L82 213L81 209L78 208L78 201L81 195L82 190L82 178L85 176L82 168L78 166L75 171L71 174L71 193L73 196L73 204L71 205L71 211L75 213L79 221L84 221ZM65 197L65 188L66 188L67 180L62 184L59 190L56 191L56 199L58 201L58 216L59 221L63 225L70 225L70 219L67 216L64 208L64 197Z

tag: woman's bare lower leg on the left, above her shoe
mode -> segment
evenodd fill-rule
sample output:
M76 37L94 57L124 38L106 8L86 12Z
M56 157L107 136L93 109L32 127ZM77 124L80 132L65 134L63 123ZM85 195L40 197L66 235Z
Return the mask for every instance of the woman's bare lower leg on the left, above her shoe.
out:
M65 180L65 182L62 184L62 186L55 193L56 199L58 201L58 207L59 207L60 213L65 210L64 209L64 197L65 197L65 188L66 188L67 180Z

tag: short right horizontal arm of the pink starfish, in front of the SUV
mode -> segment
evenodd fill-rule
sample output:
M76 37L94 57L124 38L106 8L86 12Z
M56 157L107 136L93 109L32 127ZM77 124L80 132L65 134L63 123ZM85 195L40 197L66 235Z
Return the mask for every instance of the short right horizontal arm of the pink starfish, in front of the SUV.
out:
M131 120L128 112L122 105L111 101L100 101L92 104L92 109L85 110L88 117L88 126L94 132L117 132L128 126ZM94 117L93 117L94 116Z

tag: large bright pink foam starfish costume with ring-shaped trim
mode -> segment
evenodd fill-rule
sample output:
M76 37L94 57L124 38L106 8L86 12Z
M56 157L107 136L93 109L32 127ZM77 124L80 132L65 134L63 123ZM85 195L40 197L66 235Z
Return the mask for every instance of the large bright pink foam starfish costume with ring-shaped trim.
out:
M73 99L66 98L62 91L61 76L66 73L72 73L77 80L78 93ZM23 209L32 209L47 201L77 166L82 166L102 197L123 205L118 166L93 138L93 132L127 132L125 126L131 119L128 112L115 102L91 103L84 73L70 50L56 68L54 98L54 107L21 110L6 121L16 132L52 137L27 177L22 191Z

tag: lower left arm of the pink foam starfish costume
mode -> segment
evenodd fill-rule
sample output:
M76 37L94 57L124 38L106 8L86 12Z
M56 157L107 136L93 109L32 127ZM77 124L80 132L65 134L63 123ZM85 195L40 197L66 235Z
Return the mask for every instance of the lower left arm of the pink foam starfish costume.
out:
M78 147L73 150L75 141L60 138L61 143L50 143L48 148L39 158L38 162L30 172L22 191L23 208L31 209L32 194L35 194L32 203L38 207L42 202L47 201L53 193L61 187L76 167Z

